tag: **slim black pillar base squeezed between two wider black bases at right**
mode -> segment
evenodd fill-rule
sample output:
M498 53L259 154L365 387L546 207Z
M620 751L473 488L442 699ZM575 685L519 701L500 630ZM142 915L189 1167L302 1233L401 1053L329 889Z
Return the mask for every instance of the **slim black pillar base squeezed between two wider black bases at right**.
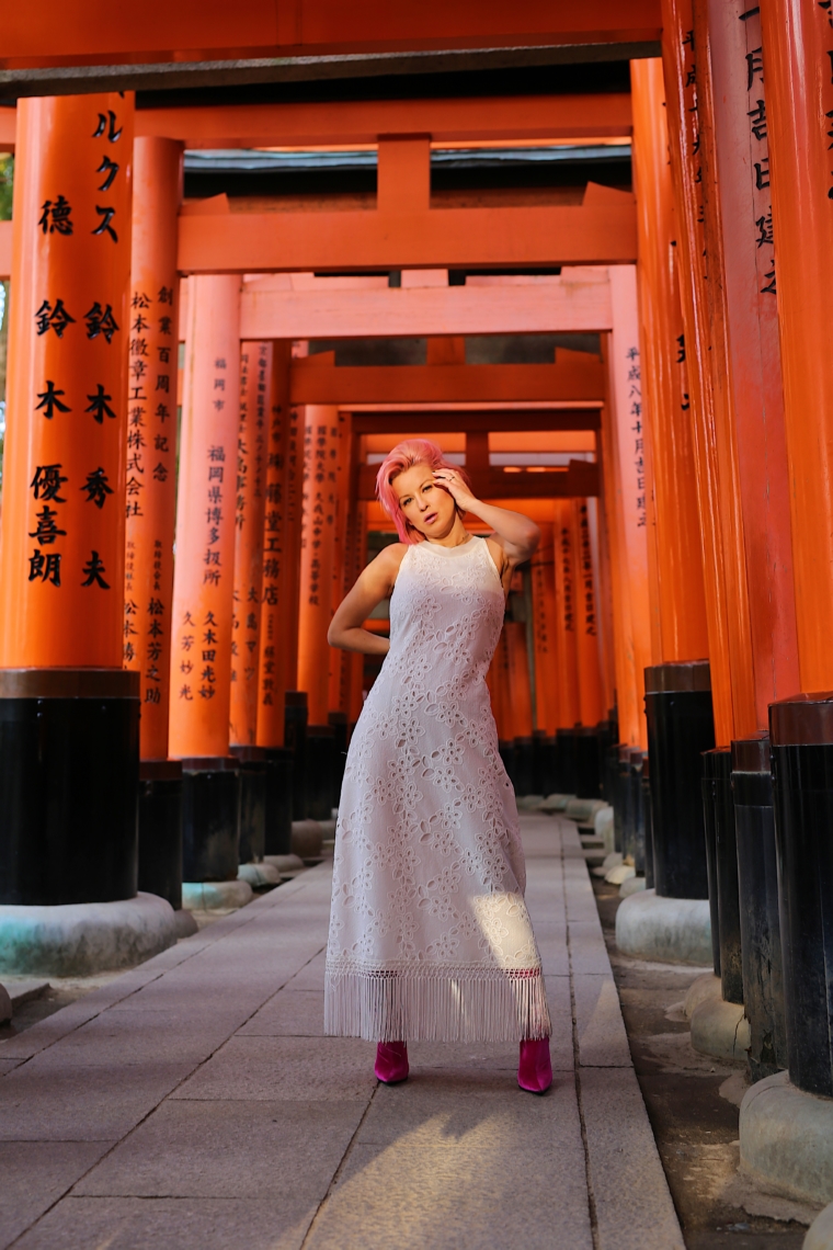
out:
M724 1002L736 1002L739 1006L743 1004L743 956L741 954L738 848L734 836L734 799L732 796L732 751L726 748L706 751L703 754L703 794L708 792L709 800L714 805L714 875L721 942L721 990Z

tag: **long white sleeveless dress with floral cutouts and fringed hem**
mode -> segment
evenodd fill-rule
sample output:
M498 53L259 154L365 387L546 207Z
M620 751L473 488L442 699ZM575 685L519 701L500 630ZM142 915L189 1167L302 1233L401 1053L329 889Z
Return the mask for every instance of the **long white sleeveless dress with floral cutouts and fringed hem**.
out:
M503 608L485 540L408 546L391 598L391 648L347 752L326 1034L550 1035L515 791L486 686Z

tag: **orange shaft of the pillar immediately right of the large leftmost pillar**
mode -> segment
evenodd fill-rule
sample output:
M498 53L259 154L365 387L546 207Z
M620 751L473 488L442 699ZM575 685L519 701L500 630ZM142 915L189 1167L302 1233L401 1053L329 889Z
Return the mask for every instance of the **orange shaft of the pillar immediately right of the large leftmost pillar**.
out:
M174 625L182 145L136 139L134 161L124 665L141 675L142 759L164 760ZM147 396L144 402L141 394Z

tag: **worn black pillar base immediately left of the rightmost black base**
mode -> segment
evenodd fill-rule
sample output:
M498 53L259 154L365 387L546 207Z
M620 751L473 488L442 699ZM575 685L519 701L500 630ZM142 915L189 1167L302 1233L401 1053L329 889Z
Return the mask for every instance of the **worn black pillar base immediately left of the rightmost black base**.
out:
M752 1041L749 1068L752 1079L759 1081L787 1066L776 812L767 735L732 742L732 792L738 845L743 1002Z

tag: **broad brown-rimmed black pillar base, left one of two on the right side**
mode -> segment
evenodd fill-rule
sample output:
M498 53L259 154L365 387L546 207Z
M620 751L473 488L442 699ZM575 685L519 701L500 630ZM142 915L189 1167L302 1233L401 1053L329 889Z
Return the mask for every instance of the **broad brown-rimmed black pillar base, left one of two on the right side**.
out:
M658 895L707 899L701 755L714 746L707 660L644 670Z

